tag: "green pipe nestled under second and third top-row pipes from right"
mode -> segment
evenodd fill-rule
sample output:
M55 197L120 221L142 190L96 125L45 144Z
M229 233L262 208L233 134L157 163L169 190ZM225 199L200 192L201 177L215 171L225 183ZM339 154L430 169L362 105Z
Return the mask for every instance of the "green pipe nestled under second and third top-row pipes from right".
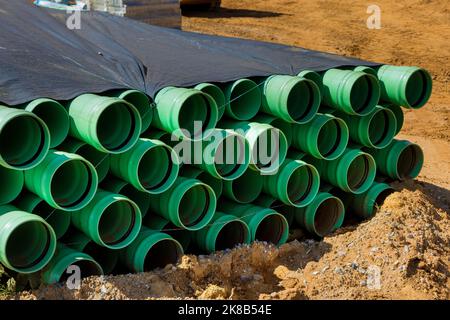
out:
M345 122L330 114L317 114L309 123L293 125L292 146L317 159L334 160L348 144Z

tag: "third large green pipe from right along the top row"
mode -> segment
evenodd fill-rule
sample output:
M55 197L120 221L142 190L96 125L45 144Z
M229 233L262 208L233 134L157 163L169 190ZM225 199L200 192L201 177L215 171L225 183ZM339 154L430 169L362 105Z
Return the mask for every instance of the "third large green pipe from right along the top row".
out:
M262 111L289 123L306 123L319 110L320 89L314 81L288 75L264 81Z

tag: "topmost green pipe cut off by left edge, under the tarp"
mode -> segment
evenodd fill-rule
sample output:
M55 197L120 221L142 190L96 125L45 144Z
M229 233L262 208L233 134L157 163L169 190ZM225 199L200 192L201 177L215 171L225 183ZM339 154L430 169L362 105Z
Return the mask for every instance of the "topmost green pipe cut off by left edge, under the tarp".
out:
M29 111L0 105L0 165L28 170L47 155L50 132L38 116Z

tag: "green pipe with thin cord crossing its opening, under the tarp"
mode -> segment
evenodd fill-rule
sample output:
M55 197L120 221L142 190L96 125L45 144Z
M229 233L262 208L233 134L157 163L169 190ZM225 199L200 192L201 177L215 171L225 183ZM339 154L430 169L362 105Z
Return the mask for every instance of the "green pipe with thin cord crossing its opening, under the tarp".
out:
M261 90L250 79L239 79L224 86L225 114L236 120L250 120L261 107Z

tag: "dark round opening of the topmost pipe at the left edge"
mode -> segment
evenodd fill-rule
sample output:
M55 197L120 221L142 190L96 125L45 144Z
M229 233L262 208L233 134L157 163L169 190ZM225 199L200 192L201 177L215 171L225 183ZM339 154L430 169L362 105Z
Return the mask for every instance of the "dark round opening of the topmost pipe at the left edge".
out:
M27 168L45 156L48 137L39 120L21 115L8 121L0 133L0 155L12 167Z

